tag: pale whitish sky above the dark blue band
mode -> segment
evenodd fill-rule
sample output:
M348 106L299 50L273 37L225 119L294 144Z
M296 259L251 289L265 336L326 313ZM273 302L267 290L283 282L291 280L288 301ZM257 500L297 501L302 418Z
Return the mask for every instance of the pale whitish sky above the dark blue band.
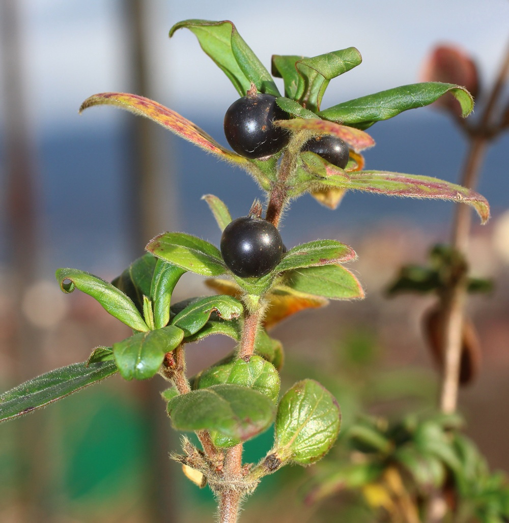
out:
M30 114L37 126L86 125L90 119L76 115L84 98L129 90L122 5L116 0L20 1ZM461 44L490 77L509 26L507 0L296 0L291 8L274 0L150 0L147 5L153 97L184 114L222 113L236 96L194 35L181 30L168 39L168 29L186 18L232 20L267 67L273 53L312 56L357 47L363 64L331 82L324 106L416 82L422 60L437 42ZM94 124L111 115L101 111Z

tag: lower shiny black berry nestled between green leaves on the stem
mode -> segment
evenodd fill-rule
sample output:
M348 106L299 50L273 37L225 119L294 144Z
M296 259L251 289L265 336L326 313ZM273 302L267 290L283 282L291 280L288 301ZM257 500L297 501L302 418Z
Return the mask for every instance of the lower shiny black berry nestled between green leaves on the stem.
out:
M279 263L283 252L279 231L261 218L237 218L227 225L221 236L224 263L242 278L266 275Z

